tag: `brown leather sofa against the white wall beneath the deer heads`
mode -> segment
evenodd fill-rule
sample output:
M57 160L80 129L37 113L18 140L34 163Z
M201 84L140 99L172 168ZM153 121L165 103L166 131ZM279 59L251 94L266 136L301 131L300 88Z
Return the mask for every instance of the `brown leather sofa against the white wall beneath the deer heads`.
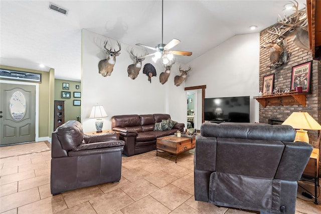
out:
M118 115L111 118L111 128L120 132L119 139L126 142L123 154L132 156L156 149L156 138L184 131L185 125L177 123L171 130L154 131L155 123L171 119L168 114Z

